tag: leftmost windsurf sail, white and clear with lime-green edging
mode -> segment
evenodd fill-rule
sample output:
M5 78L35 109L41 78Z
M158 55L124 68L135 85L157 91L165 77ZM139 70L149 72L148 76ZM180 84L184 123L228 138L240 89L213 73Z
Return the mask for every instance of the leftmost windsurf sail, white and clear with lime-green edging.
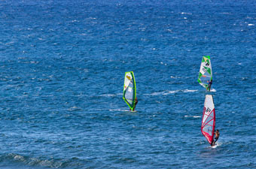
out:
M123 100L131 110L134 109L136 102L136 82L133 71L127 71L124 74Z

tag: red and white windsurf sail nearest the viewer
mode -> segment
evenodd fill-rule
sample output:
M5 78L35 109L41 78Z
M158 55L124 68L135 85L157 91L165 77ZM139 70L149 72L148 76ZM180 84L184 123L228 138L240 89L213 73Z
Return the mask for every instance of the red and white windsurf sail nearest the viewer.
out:
M215 131L215 104L212 95L206 95L201 131L208 142L212 144Z

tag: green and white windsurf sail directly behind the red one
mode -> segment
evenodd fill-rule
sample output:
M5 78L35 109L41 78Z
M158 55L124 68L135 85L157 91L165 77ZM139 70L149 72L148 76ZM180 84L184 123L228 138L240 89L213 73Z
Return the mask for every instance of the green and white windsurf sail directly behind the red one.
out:
M212 80L212 64L210 56L203 56L197 81L207 89L208 83Z

